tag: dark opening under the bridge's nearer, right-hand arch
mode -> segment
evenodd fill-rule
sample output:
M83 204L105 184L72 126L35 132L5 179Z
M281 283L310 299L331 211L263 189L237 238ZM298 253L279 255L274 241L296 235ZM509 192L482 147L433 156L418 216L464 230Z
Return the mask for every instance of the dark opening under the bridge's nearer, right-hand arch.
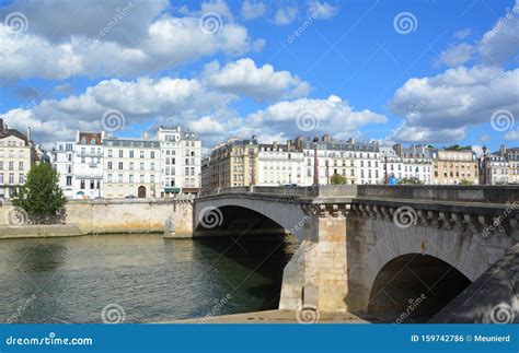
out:
M470 284L463 273L436 257L406 254L377 274L368 313L385 322L425 322Z

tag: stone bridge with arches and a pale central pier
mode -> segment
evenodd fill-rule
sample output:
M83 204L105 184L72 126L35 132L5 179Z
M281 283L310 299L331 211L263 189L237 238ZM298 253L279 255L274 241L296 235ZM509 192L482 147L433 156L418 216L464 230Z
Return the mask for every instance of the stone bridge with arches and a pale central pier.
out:
M194 236L297 236L281 309L420 320L518 243L518 210L515 186L231 188L195 200Z

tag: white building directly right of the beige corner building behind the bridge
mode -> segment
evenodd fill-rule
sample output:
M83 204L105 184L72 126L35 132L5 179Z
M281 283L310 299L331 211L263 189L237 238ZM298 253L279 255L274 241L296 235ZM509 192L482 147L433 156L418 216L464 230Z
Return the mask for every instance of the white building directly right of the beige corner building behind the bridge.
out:
M261 186L302 185L304 156L290 142L260 144L257 183Z

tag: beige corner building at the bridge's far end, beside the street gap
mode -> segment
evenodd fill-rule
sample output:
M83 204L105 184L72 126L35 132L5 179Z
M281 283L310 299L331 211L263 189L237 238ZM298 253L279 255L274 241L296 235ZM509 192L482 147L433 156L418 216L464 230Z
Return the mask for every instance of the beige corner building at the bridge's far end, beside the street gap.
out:
M209 187L211 189L257 184L258 143L251 139L229 139L211 150Z

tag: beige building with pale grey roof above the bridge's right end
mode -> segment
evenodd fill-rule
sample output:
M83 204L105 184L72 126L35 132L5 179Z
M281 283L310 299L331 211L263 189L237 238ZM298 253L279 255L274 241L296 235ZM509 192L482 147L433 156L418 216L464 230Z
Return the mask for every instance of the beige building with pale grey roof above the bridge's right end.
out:
M434 184L478 184L478 163L472 150L431 150Z

